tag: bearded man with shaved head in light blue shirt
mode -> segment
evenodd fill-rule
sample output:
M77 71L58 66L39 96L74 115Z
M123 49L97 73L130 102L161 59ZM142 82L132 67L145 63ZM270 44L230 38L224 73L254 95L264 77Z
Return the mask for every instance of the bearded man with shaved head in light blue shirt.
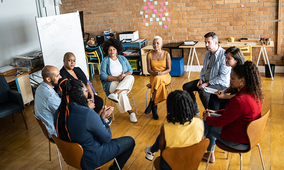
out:
M61 79L59 70L54 66L45 66L42 69L41 76L44 81L37 87L34 95L35 115L44 122L49 138L53 141L51 135L56 134L54 127L53 115L58 109L61 98L53 90Z

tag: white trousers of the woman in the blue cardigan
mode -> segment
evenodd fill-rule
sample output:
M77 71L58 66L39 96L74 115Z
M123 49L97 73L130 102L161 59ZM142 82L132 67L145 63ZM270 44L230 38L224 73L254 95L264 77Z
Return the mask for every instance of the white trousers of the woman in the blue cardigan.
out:
M113 76L119 76L120 74L115 74ZM131 91L132 86L134 83L134 76L133 75L127 75L124 77L122 81L113 81L111 82L111 85L109 87L109 93L113 93L116 89L117 90L124 90L121 93L118 94L118 100L119 102L116 103L116 106L120 113L124 113L126 111L132 110L130 101L128 98L128 93Z

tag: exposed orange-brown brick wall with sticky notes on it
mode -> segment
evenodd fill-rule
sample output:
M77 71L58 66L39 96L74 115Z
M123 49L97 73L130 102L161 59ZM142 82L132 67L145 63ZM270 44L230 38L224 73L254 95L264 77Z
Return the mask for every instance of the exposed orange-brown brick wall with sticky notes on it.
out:
M156 1L158 5L154 5L154 9L160 8L160 2L166 2ZM147 2L150 1L147 0ZM90 33L90 37L95 38L103 31L110 29L118 34L127 30L138 30L139 37L148 39L149 45L152 44L152 39L156 35L163 38L164 44L184 40L204 41L203 36L210 31L218 34L219 39L234 36L235 41L240 38L271 38L275 47L266 48L269 61L276 66L284 65L283 54L276 55L277 21L279 21L276 0L167 0L169 5L166 5L166 12L169 13L171 21L163 21L169 27L166 29L163 27L164 24L158 25L157 21L149 22L149 18L146 19L150 25L145 26L142 20L145 19L147 10L143 7L147 6L147 2L143 0L62 0L60 14L84 11L84 29L85 32ZM144 11L144 15L141 15L140 11ZM281 42L283 43L283 39ZM283 53L283 44L281 47ZM252 50L253 60L256 63L260 48ZM186 64L189 49L185 49L184 52ZM205 48L197 49L196 52L200 56L199 62L203 63ZM181 56L181 50L173 50L173 55ZM260 65L263 65L263 57L260 60ZM196 60L194 65L197 65Z

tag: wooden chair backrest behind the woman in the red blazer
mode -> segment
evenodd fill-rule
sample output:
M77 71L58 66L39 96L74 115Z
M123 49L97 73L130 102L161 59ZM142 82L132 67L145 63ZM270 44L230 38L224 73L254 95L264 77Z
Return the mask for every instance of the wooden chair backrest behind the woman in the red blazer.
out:
M251 121L247 125L247 136L250 141L250 149L260 143L269 113L270 110L268 110L262 117Z

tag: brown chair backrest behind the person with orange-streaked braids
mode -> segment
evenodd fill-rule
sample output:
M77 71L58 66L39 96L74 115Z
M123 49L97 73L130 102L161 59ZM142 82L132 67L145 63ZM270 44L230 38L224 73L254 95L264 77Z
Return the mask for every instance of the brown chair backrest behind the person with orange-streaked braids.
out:
M67 165L70 165L74 168L81 169L81 159L83 156L83 148L78 143L66 142L59 139L55 135L52 135L53 140L55 141L58 149L61 152L63 159Z

